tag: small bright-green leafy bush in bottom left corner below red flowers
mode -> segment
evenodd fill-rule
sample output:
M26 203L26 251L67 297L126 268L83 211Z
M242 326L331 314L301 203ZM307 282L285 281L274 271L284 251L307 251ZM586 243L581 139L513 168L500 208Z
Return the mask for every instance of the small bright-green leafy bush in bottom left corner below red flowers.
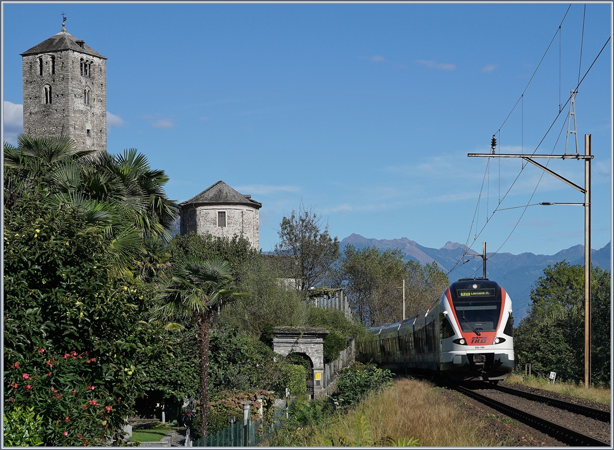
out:
M34 417L34 406L17 406L4 414L4 445L34 447L42 445L42 417Z

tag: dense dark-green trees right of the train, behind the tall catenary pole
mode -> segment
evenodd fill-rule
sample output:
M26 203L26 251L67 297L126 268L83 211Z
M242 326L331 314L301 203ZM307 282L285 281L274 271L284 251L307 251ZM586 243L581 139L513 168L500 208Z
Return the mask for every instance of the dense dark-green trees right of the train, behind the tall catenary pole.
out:
M595 384L610 384L610 272L591 274L592 373ZM543 269L531 289L529 315L515 330L517 365L538 373L584 379L584 267L565 261Z

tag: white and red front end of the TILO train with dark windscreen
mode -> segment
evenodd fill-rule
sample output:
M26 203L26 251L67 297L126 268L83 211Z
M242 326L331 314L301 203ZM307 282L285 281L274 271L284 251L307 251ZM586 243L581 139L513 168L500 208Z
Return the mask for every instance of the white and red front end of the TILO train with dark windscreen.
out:
M467 279L445 292L440 371L454 381L497 383L514 368L510 296L498 283Z

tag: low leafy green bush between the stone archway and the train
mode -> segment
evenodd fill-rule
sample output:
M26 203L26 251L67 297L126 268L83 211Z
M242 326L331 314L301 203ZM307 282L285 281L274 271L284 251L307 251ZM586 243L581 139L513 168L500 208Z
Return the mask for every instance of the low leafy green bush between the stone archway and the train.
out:
M341 369L337 379L336 401L343 401L341 406L349 406L360 401L371 390L384 389L391 384L391 371L354 362Z

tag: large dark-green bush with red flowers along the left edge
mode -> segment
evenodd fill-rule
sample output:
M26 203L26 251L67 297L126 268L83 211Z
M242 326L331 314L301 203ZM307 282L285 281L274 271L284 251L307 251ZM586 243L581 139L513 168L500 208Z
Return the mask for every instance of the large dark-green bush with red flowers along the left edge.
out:
M74 208L26 197L4 212L4 411L34 407L45 446L104 443L138 391L144 293Z

